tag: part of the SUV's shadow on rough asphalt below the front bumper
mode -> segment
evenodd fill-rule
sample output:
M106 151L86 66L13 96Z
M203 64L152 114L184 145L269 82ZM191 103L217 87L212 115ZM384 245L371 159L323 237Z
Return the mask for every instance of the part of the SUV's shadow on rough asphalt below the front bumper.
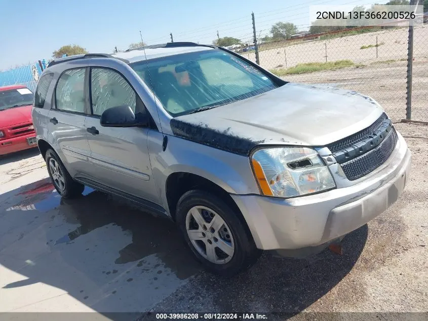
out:
M342 255L329 249L307 259L264 254L256 266L232 279L205 274L198 282L210 284L213 302L222 311L253 311L256 307L260 312L281 313L279 317L285 319L322 298L352 270L367 236L366 224L345 236ZM348 284L347 291L358 292L358 285Z

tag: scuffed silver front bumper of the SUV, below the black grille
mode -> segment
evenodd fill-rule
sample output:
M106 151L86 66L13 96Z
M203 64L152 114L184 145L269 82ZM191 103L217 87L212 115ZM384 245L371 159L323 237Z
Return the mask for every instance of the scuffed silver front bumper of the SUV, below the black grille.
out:
M231 195L260 249L318 246L358 229L391 206L404 190L411 153L403 137L388 160L356 184L290 199Z

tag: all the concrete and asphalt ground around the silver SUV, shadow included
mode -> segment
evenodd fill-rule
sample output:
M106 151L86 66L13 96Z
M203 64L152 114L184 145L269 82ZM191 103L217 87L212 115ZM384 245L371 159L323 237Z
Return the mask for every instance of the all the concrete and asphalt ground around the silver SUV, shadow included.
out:
M171 222L89 188L79 199L61 199L37 151L6 157L0 312L92 311L118 320L136 319L135 311L146 311L140 319L154 312L288 313L269 319L342 312L312 315L326 320L428 312L428 126L395 126L413 153L411 177L396 204L345 237L342 256L266 253L228 280L202 271Z

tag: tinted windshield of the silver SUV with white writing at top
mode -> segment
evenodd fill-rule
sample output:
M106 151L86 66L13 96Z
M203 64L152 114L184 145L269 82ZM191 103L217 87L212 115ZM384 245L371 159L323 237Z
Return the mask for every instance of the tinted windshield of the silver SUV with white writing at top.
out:
M138 61L131 67L174 117L249 98L278 87L257 68L222 50Z

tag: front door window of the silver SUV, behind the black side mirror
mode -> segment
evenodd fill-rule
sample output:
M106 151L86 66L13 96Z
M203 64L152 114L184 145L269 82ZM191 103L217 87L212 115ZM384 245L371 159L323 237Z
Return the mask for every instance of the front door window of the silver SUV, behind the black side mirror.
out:
M92 114L100 116L105 110L128 105L135 113L134 89L120 74L107 68L91 68Z

